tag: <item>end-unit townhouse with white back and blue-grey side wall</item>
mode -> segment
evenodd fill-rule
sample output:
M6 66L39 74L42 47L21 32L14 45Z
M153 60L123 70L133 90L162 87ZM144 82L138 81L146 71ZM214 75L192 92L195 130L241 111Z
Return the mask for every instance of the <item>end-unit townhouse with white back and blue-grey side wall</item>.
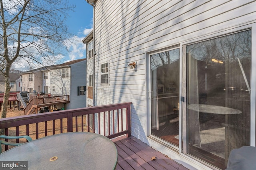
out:
M49 66L42 75L44 93L70 95L66 109L86 107L86 59Z

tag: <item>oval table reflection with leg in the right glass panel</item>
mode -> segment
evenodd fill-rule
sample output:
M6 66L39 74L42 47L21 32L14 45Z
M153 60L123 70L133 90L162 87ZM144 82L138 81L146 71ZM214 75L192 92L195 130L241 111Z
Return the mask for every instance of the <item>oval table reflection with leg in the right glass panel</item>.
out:
M229 123L228 116L229 115L236 115L242 113L242 111L238 109L233 109L229 107L223 107L223 106L214 106L214 105L207 105L207 104L190 104L187 107L190 110L197 111L198 113L211 113L211 114L220 114L226 116L226 122L225 122L225 164L228 160L228 127Z

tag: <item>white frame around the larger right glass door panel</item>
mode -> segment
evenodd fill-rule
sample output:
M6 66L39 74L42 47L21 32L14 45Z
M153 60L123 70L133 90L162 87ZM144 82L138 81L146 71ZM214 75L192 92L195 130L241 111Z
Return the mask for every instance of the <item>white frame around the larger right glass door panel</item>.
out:
M181 70L180 70L180 74L182 74L182 81L180 82L180 86L181 86L181 89L182 91L180 92L180 96L183 96L184 97L184 102L181 102L180 104L180 109L181 109L181 114L182 114L182 137L183 137L183 150L181 150L184 154L186 155L189 155L187 154L187 137L186 137L186 134L187 134L187 117L186 117L186 114L187 114L187 101L186 101L186 93L187 93L187 89L186 89L186 85L187 85L187 82L186 82L186 46L187 45L190 45L190 44L193 44L193 43L198 43L200 41L206 41L206 40L209 40L209 39L213 39L213 38L216 38L216 37L222 37L222 36L226 36L226 35L229 35L229 34L233 34L233 33L236 33L236 32L239 32L239 31L244 31L246 29L251 29L252 31L252 42L251 42L251 77L250 77L250 81L251 81L251 84L250 84L250 87L251 87L251 98L250 98L250 146L253 146L255 147L256 146L256 76L252 76L252 75L256 75L256 48L253 48L255 45L256 45L256 23L252 23L252 24L249 24L249 25L244 25L244 26L240 26L240 27L233 27L232 29L226 29L225 31L218 31L217 33L214 33L214 34L210 34L210 35L206 35L204 37L200 37L200 38L197 38L197 39L193 39L193 40L190 40L190 41L186 41L184 43L181 43L181 52L180 54L182 54L182 56L180 57L181 60L180 62L182 63L181 64ZM192 155L189 155L190 157L192 158L195 158L194 156ZM200 161L200 160L199 160ZM200 161L202 162L202 161ZM205 164L205 163L204 163Z

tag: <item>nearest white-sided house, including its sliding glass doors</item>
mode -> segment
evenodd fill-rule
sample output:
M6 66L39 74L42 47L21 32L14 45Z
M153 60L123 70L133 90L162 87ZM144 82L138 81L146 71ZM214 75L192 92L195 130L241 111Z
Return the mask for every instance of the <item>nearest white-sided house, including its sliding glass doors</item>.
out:
M132 136L189 169L256 145L256 1L86 1L88 103L132 102Z

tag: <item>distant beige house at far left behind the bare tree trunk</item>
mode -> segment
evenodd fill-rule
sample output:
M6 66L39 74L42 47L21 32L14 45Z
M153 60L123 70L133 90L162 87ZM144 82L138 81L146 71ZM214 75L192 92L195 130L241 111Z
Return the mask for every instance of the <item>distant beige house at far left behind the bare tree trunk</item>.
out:
M19 83L18 83L19 73L10 72L9 76L10 76L10 87L11 87L10 92L18 92L18 91L20 91ZM4 90L5 90L5 78L1 74L0 75L0 92L4 93Z

